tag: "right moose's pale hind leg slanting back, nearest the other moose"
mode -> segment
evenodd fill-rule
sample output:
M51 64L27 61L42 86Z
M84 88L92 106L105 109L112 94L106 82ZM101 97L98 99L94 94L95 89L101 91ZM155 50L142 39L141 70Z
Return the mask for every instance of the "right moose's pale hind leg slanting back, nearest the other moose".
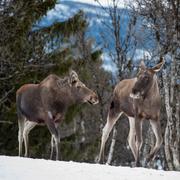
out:
M118 118L120 117L121 114L122 113L112 113L111 109L110 109L106 125L103 128L103 133L102 133L102 138L101 138L101 148L100 148L100 153L99 153L99 157L98 157L98 163L101 163L101 161L104 162L104 148L105 148L106 141L109 137L109 134L110 134L113 126L115 125L116 121L118 120Z

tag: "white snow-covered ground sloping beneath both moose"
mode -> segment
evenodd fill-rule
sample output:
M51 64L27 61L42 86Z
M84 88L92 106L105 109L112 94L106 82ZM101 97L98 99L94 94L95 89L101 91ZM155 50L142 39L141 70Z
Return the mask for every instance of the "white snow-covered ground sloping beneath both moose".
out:
M0 156L0 180L179 180L180 172Z

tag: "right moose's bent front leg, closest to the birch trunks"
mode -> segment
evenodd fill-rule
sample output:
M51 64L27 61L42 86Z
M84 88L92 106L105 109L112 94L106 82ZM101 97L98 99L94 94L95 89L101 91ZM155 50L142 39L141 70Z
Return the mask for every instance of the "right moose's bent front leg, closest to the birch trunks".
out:
M149 162L155 158L155 155L159 151L160 146L163 142L160 121L159 120L150 120L150 124L151 124L152 130L154 132L154 135L156 137L156 144L155 144L154 148L151 150L149 157L147 158L147 162Z

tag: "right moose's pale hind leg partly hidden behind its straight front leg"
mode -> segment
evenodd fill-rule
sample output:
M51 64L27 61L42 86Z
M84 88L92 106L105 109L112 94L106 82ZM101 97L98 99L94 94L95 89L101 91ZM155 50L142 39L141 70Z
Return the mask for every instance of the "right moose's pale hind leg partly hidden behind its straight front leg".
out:
M135 161L137 161L137 147L136 147L136 132L135 132L135 119L132 117L129 118L129 135L128 143L131 151L133 153Z

